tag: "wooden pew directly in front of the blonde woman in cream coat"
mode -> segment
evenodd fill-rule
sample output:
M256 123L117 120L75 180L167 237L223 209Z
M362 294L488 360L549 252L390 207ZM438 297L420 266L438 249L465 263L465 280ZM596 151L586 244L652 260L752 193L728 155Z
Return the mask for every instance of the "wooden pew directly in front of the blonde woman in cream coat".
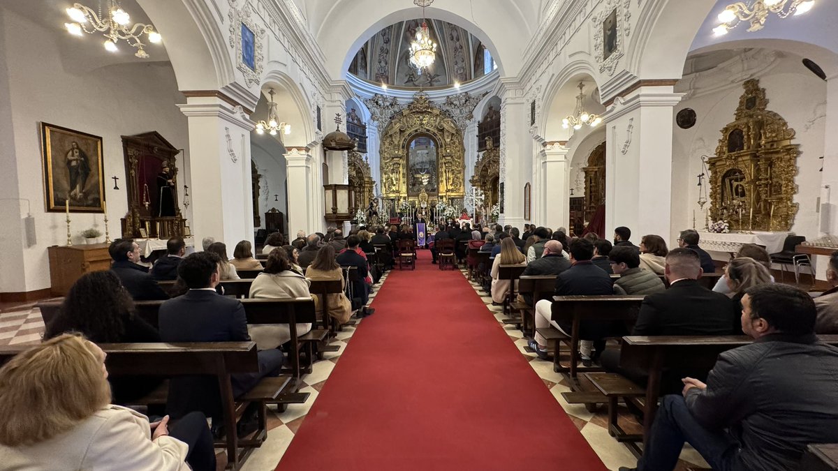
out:
M30 346L8 345L0 347L0 364ZM265 401L279 396L291 380L283 375L263 378L251 391L235 400L230 384L233 373L251 373L259 370L256 344L253 342L202 342L183 344L99 344L107 354L106 367L112 376L178 376L214 375L218 378L221 410L224 417L225 442L216 443L227 452L226 469L237 470L267 437ZM162 396L165 401L165 395ZM147 405L142 400L134 405ZM236 433L236 422L250 402L261 402L259 429L251 439L241 440ZM242 448L239 451L239 448Z

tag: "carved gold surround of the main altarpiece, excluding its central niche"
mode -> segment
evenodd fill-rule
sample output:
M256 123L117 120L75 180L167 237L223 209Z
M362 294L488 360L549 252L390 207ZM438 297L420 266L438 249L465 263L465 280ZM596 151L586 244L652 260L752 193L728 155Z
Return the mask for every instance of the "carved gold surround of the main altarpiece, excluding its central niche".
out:
M439 196L449 200L462 199L465 194L463 132L421 91L413 96L406 109L391 118L381 134L381 190L384 198L417 201L416 196L407 196L407 146L413 137L419 135L430 136L438 146Z

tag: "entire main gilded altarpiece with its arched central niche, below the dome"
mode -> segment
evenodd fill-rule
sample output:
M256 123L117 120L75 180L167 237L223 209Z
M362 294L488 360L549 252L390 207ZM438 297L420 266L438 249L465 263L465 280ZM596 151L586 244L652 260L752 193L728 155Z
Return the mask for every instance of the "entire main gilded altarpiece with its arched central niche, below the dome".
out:
M463 132L424 93L391 118L381 134L380 155L385 204L407 200L416 208L422 196L429 197L426 204L444 199L462 207Z

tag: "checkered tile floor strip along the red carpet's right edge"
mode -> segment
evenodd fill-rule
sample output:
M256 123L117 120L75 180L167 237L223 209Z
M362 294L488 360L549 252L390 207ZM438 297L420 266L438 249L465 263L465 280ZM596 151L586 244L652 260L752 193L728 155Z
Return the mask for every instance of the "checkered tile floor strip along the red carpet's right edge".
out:
M463 276L468 276L465 270L461 269L461 272L463 272ZM600 406L596 411L589 412L583 404L568 404L564 397L561 396L562 392L571 391L571 383L567 375L553 371L552 360L541 360L535 353L527 352L524 349L527 344L527 339L524 338L524 334L519 329L516 329L515 325L503 323L502 319L507 317L503 313L503 308L492 304L492 297L483 291L483 288L478 282L470 281L470 283L474 291L480 296L480 299L486 304L486 308L498 319L498 323L503 325L504 330L510 336L510 340L518 346L521 355L527 358L532 369L541 377L547 389L556 397L556 401L558 401L559 405L567 413L567 417L570 417L571 421L582 432L582 437L585 437L587 443L591 445L591 448L597 453L597 456L603 460L605 466L608 469L618 469L620 466L634 468L637 463L637 458L634 458L634 455L629 452L629 448L626 448L622 443L618 443L614 437L608 435L608 410L605 406ZM618 415L620 426L626 429L627 432L643 432L642 425L637 422L625 406L621 406ZM535 417L533 417L533 420L535 420ZM680 462L675 470L686 471L689 468L709 467L704 459L701 458L701 455L687 445L684 452L681 453Z

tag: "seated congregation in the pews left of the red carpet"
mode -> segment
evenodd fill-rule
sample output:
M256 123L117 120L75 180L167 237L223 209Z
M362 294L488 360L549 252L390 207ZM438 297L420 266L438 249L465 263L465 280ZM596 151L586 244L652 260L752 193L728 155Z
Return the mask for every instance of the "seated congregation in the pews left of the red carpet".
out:
M173 238L150 269L114 241L111 270L39 303L42 344L0 351L0 468L209 471L219 447L238 468L266 439L265 406L305 401L337 331L375 312L382 266L361 232L301 237L303 251L273 235L261 259L241 241L232 260L220 241L185 255Z

